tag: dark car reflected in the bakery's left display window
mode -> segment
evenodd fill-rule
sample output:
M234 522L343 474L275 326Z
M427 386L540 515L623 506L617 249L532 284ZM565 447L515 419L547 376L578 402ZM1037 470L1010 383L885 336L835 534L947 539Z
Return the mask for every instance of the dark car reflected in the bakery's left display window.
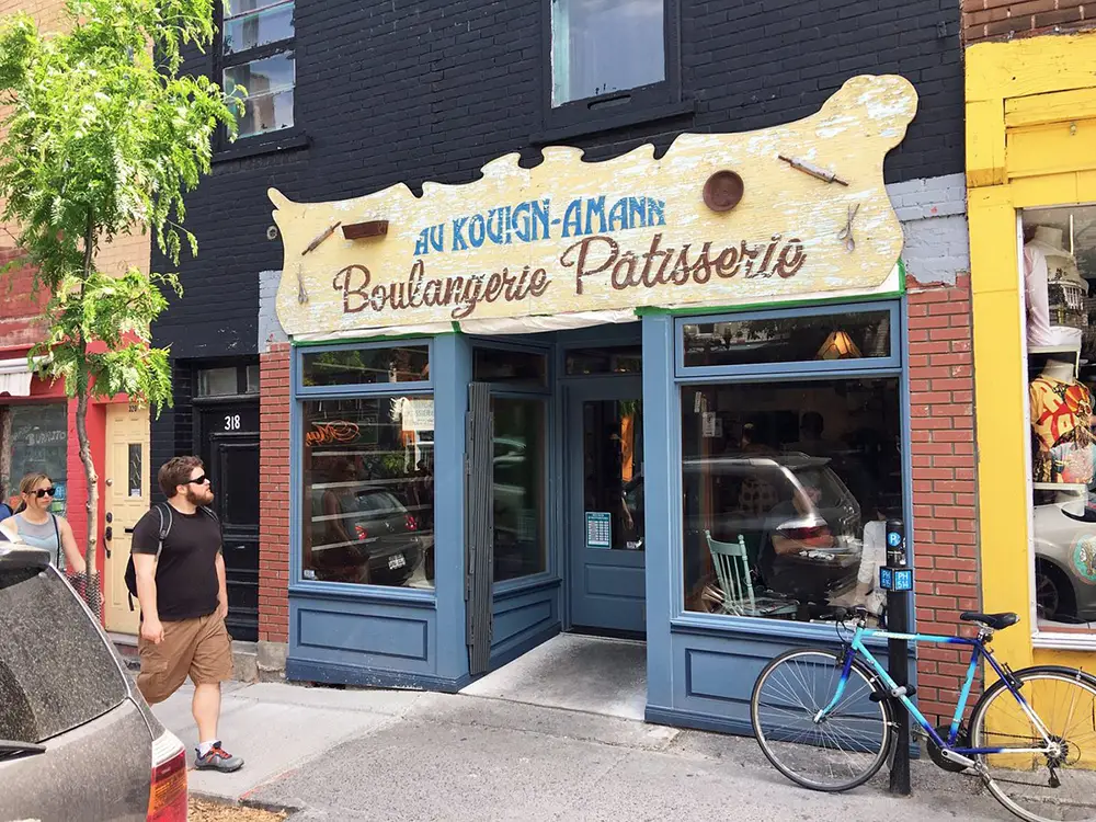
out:
M312 570L319 580L403 585L423 560L419 518L391 491L365 488L349 494L339 514L349 540L330 541L323 491L313 492ZM347 511L349 509L349 511ZM363 573L368 569L367 574ZM357 579L350 579L356 575Z

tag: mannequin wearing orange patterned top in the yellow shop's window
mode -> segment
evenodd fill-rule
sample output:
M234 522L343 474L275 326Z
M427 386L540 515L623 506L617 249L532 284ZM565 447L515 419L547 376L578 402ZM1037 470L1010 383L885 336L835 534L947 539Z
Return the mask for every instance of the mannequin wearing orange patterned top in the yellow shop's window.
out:
M1093 400L1074 368L1051 357L1028 387L1036 482L1092 482Z

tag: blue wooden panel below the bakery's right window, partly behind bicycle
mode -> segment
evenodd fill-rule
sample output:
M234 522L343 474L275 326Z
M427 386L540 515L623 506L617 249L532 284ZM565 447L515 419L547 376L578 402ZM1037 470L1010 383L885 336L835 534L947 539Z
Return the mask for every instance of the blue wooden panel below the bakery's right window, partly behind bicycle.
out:
M727 733L752 734L750 696L769 660L791 648L836 650L836 638L795 638L786 631L731 633L689 626L671 629L673 704L648 705L647 719ZM871 647L887 664L887 648ZM911 676L914 671L911 658Z

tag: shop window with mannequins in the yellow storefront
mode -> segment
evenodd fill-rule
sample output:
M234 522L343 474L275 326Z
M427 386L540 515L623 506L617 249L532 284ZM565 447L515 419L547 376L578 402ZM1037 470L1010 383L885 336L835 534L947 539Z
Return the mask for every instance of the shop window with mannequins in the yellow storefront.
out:
M1096 627L1096 205L1024 212L1038 625Z

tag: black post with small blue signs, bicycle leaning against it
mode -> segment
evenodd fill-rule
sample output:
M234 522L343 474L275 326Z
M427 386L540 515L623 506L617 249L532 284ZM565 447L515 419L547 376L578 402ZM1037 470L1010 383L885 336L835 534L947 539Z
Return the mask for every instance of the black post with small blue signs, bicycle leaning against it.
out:
M913 569L906 561L905 524L887 521L887 564L879 569L880 587L887 591L887 629L910 632L910 593L913 591ZM887 640L887 672L899 687L910 684L910 648L904 639ZM893 701L898 721L894 763L891 765L890 791L910 796L910 713L905 706Z

